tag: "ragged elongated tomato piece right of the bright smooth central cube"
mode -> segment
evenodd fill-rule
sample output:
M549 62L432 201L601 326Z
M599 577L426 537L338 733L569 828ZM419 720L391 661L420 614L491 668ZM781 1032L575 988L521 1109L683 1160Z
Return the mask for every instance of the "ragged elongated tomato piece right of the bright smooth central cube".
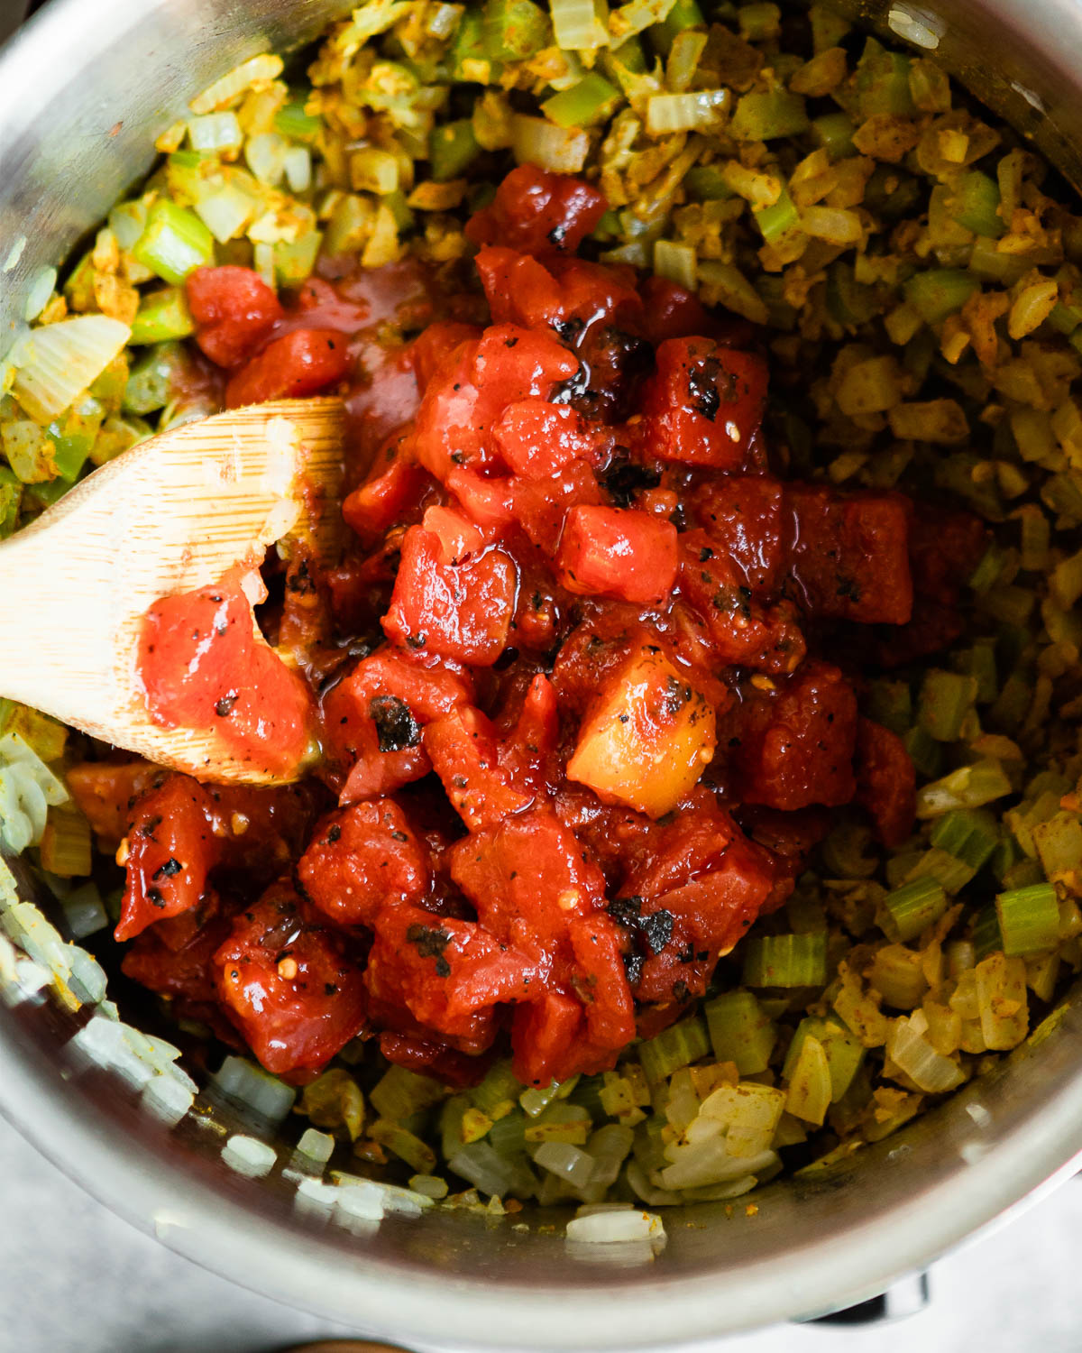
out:
M679 587L705 622L715 662L772 674L795 671L806 644L793 605L756 601L729 555L710 538L701 530L680 536Z

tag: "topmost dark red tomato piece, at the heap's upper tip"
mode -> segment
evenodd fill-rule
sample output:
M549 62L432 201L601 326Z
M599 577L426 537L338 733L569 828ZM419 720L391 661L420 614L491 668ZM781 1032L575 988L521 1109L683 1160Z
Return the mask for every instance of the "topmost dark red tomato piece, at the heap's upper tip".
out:
M538 256L575 253L605 215L605 198L582 179L519 165L495 199L469 218L467 239Z

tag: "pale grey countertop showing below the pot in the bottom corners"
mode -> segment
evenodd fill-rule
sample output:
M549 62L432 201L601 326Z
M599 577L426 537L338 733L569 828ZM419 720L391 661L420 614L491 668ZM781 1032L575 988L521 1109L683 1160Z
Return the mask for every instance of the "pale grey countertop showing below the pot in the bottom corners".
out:
M350 1333L172 1254L83 1193L3 1119L0 1180L0 1353L272 1353ZM1079 1260L1082 1180L1073 1180L941 1260L931 1306L908 1321L778 1326L720 1342L717 1353L1078 1353Z

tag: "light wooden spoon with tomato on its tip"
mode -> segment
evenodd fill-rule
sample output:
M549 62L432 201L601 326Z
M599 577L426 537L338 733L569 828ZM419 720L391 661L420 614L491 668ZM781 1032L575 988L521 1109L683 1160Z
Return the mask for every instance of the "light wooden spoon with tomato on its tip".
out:
M334 551L339 399L283 399L133 446L0 545L0 695L202 779L266 782L216 732L162 728L137 672L158 598L254 571L277 540Z

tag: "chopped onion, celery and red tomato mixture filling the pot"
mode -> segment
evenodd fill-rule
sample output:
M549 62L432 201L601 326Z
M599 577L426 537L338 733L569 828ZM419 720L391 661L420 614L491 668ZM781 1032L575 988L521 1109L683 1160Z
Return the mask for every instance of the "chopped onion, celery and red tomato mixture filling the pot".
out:
M369 0L158 149L31 288L0 536L222 407L349 423L350 543L266 561L272 647L225 583L143 644L164 717L314 735L299 783L0 701L0 843L188 1062L430 1197L660 1206L1018 1046L1082 966L1048 166L926 55L695 0Z

